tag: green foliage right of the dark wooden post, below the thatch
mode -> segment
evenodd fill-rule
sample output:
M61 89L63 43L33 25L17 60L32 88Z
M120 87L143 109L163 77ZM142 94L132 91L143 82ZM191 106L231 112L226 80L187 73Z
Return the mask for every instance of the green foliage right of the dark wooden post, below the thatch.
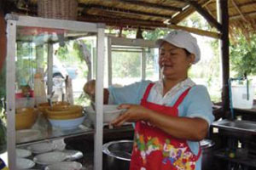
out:
M256 35L247 42L246 37L237 34L238 42L230 44L230 68L236 72L236 77L256 74Z

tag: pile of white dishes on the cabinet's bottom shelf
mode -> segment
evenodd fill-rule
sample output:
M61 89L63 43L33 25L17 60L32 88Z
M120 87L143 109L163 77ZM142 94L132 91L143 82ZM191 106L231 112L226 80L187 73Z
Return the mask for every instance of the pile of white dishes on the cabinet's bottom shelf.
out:
M44 167L45 170L80 170L83 167L81 163L75 161L83 157L82 152L78 150L60 151L52 142L31 144L27 146L27 150L16 149L16 153L20 156L17 159L19 169L34 167L35 163L38 164L37 167ZM36 155L32 160L24 158L32 156L32 153Z

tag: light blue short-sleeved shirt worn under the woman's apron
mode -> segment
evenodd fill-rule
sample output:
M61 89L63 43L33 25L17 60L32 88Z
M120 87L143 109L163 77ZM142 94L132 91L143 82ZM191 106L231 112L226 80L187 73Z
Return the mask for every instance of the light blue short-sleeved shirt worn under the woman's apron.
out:
M141 99L143 99L143 94L148 87L149 81L135 82L131 85L109 89L109 103L110 104L137 104L139 105ZM172 106L175 104L177 98L185 91L187 88L181 88L179 91L168 100L166 105ZM148 101L154 102L155 96L160 95L154 88L151 89L148 95ZM189 90L189 94L183 99L183 102L178 106L178 116L186 117L200 117L208 122L210 125L214 116L212 115L212 102L210 96L207 92L207 88L202 85L195 85ZM195 141L188 141L190 149L195 153L198 153L199 143ZM196 162L196 170L201 169L201 158Z

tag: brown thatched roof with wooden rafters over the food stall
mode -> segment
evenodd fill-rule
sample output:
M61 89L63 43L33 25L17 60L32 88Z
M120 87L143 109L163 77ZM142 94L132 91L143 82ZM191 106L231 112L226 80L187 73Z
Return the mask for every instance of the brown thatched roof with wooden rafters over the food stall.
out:
M65 0L59 1L64 2ZM18 3L15 3L15 12L38 14L37 0L18 0L16 2ZM50 1L48 0L48 2ZM77 20L102 22L111 27L123 29L180 28L177 24L195 11L207 18L210 25L217 27L217 30L221 26L216 21L216 0L78 0L78 2ZM229 0L229 15L231 32L235 28L244 32L256 31L255 0ZM214 34L211 37L218 37L218 35Z

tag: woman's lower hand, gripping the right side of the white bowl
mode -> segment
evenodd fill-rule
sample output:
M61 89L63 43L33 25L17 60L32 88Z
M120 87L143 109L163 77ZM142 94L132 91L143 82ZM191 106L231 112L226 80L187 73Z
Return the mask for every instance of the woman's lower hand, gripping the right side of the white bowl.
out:
M110 124L115 127L121 126L124 122L147 121L148 112L150 111L142 105L130 104L119 105L119 109L127 109L127 111L110 122Z

